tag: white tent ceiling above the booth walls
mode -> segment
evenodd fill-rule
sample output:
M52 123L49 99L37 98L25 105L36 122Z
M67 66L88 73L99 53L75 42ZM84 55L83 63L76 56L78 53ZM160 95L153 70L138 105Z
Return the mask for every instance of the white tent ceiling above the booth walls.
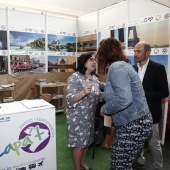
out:
M0 6L80 17L126 0L0 0ZM148 0L170 7L170 0Z

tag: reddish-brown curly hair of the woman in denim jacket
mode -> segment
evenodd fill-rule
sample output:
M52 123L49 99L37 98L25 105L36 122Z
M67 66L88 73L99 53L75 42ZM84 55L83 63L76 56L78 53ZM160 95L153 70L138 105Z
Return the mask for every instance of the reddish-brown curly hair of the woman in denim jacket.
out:
M121 43L115 38L103 39L97 51L97 60L100 66L106 68L116 61L129 62L124 54Z

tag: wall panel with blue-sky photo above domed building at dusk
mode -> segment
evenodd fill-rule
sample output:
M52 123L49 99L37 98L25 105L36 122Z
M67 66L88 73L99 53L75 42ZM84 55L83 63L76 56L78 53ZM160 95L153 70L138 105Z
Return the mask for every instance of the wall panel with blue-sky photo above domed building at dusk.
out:
M74 72L76 69L76 20L53 16L48 16L47 20L48 72Z

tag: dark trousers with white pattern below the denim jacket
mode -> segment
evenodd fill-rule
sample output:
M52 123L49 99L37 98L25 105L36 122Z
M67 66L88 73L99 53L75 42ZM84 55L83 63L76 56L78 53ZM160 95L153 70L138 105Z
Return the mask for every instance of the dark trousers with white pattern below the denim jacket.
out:
M116 127L116 138L111 148L111 170L131 170L151 133L152 121L148 115Z

